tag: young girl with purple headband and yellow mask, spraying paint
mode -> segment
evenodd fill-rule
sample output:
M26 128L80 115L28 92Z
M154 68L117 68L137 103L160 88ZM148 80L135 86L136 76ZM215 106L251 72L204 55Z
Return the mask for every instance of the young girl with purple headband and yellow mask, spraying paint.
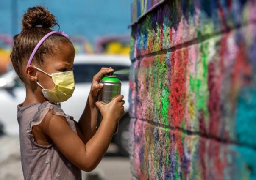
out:
M58 25L55 17L42 6L28 8L11 52L14 69L26 87L25 101L17 106L25 180L80 180L81 169L92 171L99 164L124 115L122 95L106 105L97 102L103 87L99 80L113 72L111 68L101 68L92 79L78 123L56 104L74 91L75 50L64 32L50 29L54 25ZM96 132L97 107L103 120Z

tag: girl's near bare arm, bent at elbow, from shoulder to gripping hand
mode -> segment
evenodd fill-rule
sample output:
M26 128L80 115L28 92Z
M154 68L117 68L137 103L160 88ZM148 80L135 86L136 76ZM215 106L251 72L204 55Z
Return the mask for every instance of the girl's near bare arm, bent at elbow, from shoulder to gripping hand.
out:
M103 115L103 120L95 135L86 144L62 116L48 112L39 126L72 164L83 171L92 171L106 153L116 124L124 115L122 98L123 95L118 95L106 105L100 102L96 103Z

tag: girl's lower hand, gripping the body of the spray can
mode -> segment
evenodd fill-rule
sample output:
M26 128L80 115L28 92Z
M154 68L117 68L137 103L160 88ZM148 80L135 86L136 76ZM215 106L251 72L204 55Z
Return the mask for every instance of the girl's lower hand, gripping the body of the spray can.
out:
M117 95L108 104L103 104L100 101L96 102L96 106L99 108L102 117L109 117L117 123L121 117L125 114L123 95Z

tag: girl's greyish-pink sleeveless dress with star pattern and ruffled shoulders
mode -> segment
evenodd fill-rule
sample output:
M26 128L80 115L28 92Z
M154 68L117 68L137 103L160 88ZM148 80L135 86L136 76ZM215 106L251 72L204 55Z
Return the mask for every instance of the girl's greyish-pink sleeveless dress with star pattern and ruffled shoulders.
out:
M72 117L50 101L34 103L18 108L19 140L22 171L25 180L81 180L81 169L74 166L57 147L39 145L35 142L31 128L44 119L47 112L65 117L72 130L77 133Z

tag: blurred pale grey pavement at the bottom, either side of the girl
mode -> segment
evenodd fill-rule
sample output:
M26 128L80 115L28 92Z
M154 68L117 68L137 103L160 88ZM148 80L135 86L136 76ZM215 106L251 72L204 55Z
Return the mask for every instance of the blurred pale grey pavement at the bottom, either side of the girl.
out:
M82 172L83 180L131 180L129 158L116 156L114 144L92 172ZM0 180L23 180L19 136L0 136Z

